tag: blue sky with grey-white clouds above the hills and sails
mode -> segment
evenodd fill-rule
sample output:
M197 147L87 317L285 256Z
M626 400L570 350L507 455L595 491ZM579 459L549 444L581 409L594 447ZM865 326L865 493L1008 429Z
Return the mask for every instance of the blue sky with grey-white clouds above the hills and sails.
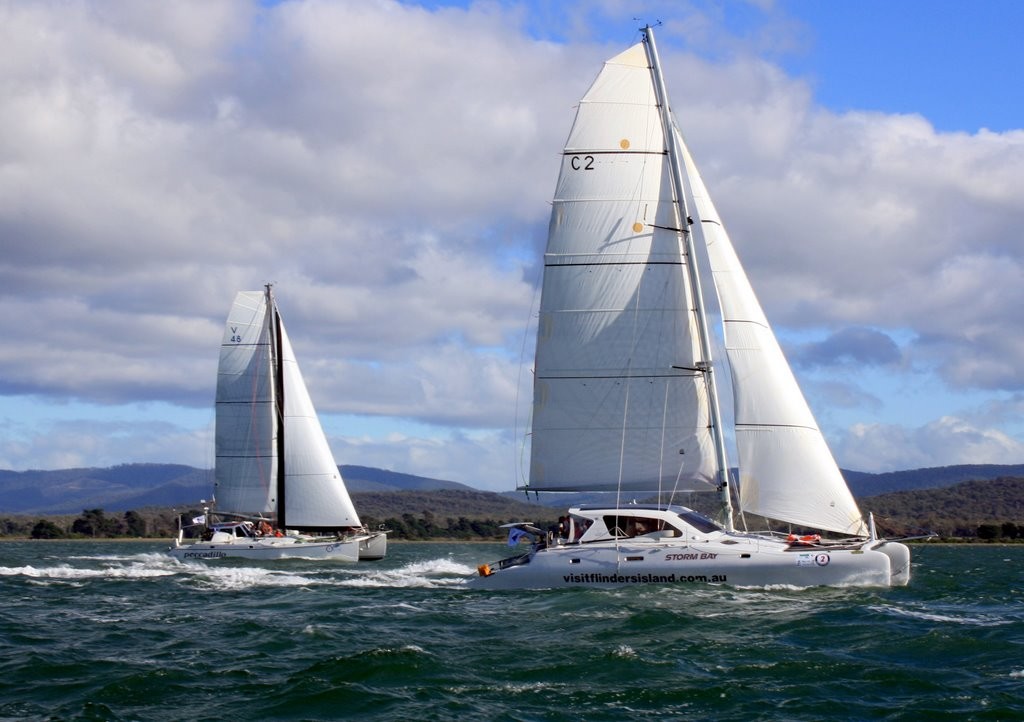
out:
M0 0L0 468L213 465L273 283L339 464L521 481L559 153L657 26L843 468L1024 463L1012 0Z

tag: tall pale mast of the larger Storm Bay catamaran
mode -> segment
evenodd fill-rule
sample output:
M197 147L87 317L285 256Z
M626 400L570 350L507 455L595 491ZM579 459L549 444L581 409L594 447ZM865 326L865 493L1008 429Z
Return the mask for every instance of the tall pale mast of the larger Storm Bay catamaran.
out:
M657 47L654 45L654 29L650 26L643 28L644 47L647 49L647 59L650 62L651 75L654 81L654 92L657 95L657 103L662 114L662 125L665 130L665 142L669 153L669 168L672 173L672 183L676 190L676 204L679 213L679 224L681 241L685 248L687 263L686 270L689 275L690 288L693 291L693 303L695 305L697 333L700 339L700 352L702 360L697 365L702 372L708 384L708 395L711 404L711 424L712 437L715 440L715 455L718 459L718 491L722 503L722 516L725 527L732 532L732 501L729 493L729 460L725 451L725 433L722 428L722 413L718 402L718 388L715 384L715 372L712 364L711 336L708 332L708 316L705 310L703 294L700 292L700 278L696 264L696 255L693 247L693 233L690 232L690 215L686 208L686 185L683 182L683 159L676 142L675 124L672 120L672 112L669 108L669 92L665 87L665 78L662 75L662 63L657 56Z

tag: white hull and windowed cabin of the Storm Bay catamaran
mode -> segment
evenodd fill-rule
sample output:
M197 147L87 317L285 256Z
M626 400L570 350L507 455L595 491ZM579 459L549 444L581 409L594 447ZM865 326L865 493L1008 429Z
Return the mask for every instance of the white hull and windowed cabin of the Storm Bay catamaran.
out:
M670 505L574 507L563 518L565 524L546 536L530 524L509 524L511 535L534 538L529 551L481 564L470 586L890 587L910 581L910 551L897 542L829 544L816 537L806 541L727 532L690 509Z

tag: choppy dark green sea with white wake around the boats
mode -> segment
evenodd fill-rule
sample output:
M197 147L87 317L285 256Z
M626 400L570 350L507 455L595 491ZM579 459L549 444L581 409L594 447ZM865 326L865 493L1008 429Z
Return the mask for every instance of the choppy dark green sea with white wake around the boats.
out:
M0 719L1024 719L1024 546L905 589L471 592L503 545L188 563L0 544Z

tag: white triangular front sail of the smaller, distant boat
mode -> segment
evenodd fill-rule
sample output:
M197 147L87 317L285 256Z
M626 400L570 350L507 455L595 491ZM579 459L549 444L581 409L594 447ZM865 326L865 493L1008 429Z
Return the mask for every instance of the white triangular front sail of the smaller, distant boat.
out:
M285 397L285 520L298 528L361 526L281 325Z

